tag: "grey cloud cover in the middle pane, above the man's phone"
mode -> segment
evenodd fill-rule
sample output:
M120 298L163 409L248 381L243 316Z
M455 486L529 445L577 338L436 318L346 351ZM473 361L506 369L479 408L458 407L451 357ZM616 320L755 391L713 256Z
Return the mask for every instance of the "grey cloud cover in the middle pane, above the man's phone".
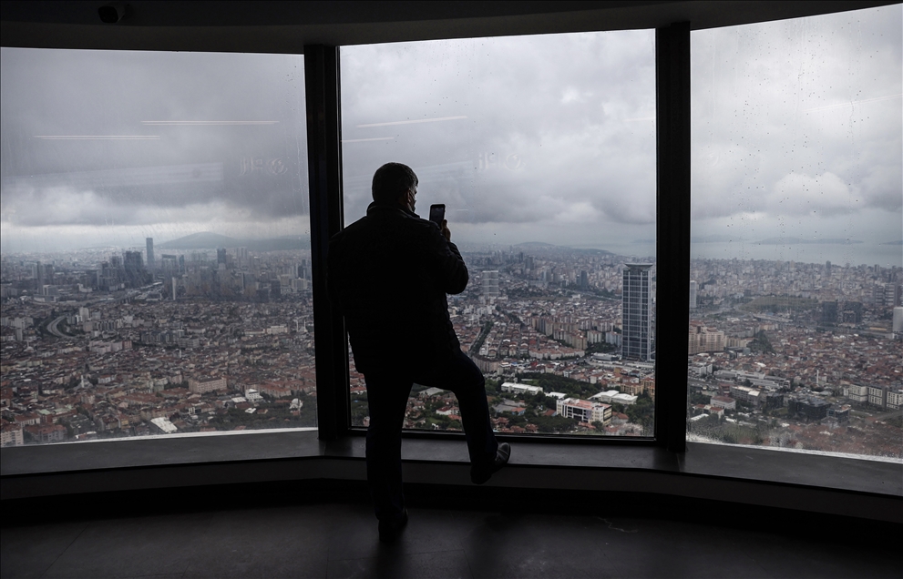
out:
M344 138L393 137L345 145L347 220L363 214L373 170L395 160L417 170L421 202L471 224L654 221L651 32L354 46L342 57ZM467 118L357 127L450 116Z

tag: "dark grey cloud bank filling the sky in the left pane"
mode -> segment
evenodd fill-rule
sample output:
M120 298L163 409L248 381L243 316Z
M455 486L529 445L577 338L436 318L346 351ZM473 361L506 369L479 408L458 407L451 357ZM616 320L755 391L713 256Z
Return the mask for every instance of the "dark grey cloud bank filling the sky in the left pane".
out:
M302 57L2 55L5 221L147 224L210 205L306 214Z

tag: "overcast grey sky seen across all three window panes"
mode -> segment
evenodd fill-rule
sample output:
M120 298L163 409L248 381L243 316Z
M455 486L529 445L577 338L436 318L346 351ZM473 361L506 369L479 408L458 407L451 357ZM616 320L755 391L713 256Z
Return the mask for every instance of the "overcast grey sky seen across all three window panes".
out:
M901 21L693 33L694 236L903 238ZM393 160L459 241L654 238L652 31L341 57L347 222ZM2 76L4 251L307 233L301 56L4 48Z

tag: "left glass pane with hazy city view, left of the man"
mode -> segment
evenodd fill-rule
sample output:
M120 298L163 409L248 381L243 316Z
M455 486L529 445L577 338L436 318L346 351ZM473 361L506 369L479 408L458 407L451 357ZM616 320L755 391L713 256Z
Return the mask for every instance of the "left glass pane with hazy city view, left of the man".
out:
M303 57L0 56L3 444L313 427Z

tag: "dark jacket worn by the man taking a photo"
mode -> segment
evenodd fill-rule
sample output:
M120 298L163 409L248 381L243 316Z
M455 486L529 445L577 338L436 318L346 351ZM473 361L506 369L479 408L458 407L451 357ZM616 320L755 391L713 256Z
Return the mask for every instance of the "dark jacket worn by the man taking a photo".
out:
M329 242L327 287L345 317L358 371L399 364L425 371L460 348L446 293L467 287L467 266L436 224L395 205L372 203L366 217Z

